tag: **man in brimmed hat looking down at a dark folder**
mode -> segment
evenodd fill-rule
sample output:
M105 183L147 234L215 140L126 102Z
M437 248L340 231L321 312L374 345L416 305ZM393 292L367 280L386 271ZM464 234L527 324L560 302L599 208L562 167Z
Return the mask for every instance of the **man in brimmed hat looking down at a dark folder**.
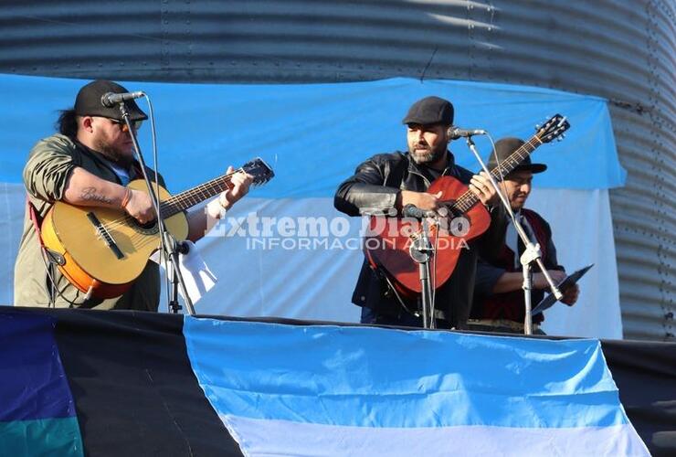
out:
M491 154L488 167L493 169L502 164L514 151L523 145L518 138L503 138L495 143L495 152ZM526 157L521 165L504 177L500 184L505 196L510 201L515 218L519 220L526 234L533 243L540 244L544 267L549 271L552 280L561 282L565 278L564 267L556 260L556 248L552 240L552 229L535 211L526 209L526 199L533 188L533 175L542 173L547 165L533 164ZM523 242L509 220L505 233L505 244L499 255L492 260L480 258L477 266L477 282L474 290L474 303L470 313L470 328L502 333L523 334L525 308L523 303L523 273L520 262L523 254ZM539 303L549 283L537 265L533 267L533 290L531 298L533 306ZM563 303L573 305L577 301L579 289L577 285L565 291ZM542 313L533 316L533 333L542 334L539 325L543 322Z

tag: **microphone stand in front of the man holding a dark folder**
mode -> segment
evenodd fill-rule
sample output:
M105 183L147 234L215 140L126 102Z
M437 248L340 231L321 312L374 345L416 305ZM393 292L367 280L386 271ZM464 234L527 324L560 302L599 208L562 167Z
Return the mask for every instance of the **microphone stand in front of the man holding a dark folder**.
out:
M507 198L502 195L500 187L495 182L493 175L491 175L491 171L488 169L486 164L484 164L483 161L481 160L481 155L477 151L476 145L474 144L474 141L471 139L471 135L467 136L467 145L470 147L470 151L474 153L474 156L479 161L479 164L481 165L483 171L485 171L486 174L488 175L489 180L491 181L491 186L493 186L495 191L498 193L498 197L500 197L502 206L505 207L505 209L507 210L507 214L512 219L512 224L514 224L516 233L519 234L519 237L523 241L523 246L525 246L525 250L523 251L523 254L520 258L521 265L523 267L522 288L523 288L523 303L525 306L523 334L533 335L533 316L531 315L531 310L533 309L533 305L531 302L531 290L533 289L533 274L531 271L531 263L533 263L533 261L537 263L537 265L540 267L540 271L543 272L544 279L546 279L547 282L549 283L549 288L551 289L552 293L554 293L556 300L561 300L562 298L564 298L564 295L561 293L561 291L558 290L556 284L554 283L554 281L552 281L552 277L549 275L549 272L547 271L546 268L544 268L542 253L540 252L540 245L533 244L533 241L531 241L528 235L526 235L525 230L523 230L521 223L516 218L514 218L512 205L510 205L510 202L507 200Z

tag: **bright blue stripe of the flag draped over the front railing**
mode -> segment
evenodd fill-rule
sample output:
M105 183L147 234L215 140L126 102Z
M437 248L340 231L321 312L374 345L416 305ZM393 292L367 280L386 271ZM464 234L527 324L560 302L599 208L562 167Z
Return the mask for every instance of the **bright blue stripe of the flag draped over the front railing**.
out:
M628 423L596 340L193 317L184 333L219 414L395 428Z

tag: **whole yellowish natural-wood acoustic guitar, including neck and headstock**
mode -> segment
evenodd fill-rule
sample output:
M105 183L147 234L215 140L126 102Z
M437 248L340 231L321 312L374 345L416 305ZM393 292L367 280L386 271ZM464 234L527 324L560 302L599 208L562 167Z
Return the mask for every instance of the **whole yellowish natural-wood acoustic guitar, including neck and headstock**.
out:
M253 186L267 183L274 176L269 165L256 158L230 174L174 197L164 187L154 187L165 227L175 239L187 238L185 210L232 188L231 177L238 172L252 175ZM143 179L132 181L128 187L148 191ZM57 263L58 270L87 297L99 299L117 297L127 291L151 254L160 248L156 220L141 224L120 209L78 207L62 201L49 209L41 232L48 255Z

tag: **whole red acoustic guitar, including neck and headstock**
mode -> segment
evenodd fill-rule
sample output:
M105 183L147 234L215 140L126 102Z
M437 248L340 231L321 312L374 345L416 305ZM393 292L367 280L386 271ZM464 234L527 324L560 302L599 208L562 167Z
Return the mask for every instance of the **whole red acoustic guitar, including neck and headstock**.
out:
M502 164L491 170L495 179L507 175L540 144L550 143L564 133L570 124L556 114L537 130L533 137L514 151ZM468 241L479 237L491 225L491 215L458 179L441 176L428 188L428 193L441 192L439 228L430 228L430 241L437 244L437 266L433 284L447 282L458 262L460 250ZM446 213L446 214L444 214ZM364 253L372 265L386 271L394 280L398 292L411 297L421 292L418 264L409 254L412 242L420 238L420 221L411 218L371 218L369 233L364 240Z

